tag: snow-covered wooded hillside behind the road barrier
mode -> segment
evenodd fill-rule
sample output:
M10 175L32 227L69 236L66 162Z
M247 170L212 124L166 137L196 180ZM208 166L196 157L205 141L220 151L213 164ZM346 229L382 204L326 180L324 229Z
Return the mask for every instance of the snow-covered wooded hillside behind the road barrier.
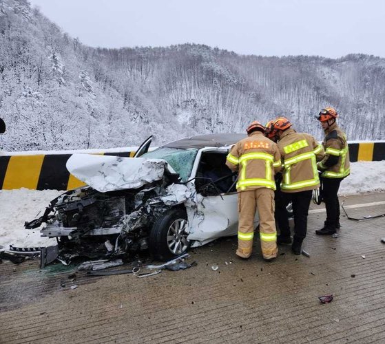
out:
M240 56L205 45L94 49L26 0L0 0L0 149L87 149L244 132L287 116L340 112L348 140L385 137L385 59Z

